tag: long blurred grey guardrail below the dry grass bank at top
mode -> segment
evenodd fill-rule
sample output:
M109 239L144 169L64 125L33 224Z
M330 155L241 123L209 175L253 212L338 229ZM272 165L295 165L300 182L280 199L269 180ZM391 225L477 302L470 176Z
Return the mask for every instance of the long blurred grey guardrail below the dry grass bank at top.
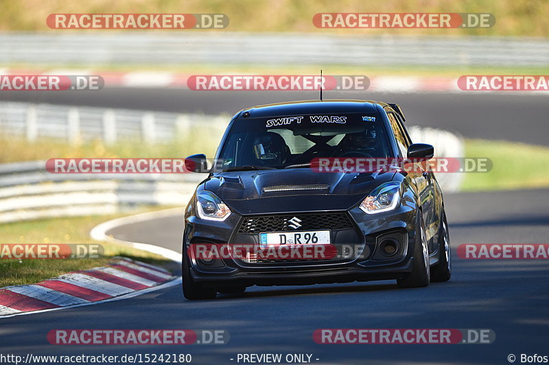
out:
M0 49L4 64L305 64L314 65L315 74L319 64L544 66L549 62L548 40L487 36L12 32L0 34Z

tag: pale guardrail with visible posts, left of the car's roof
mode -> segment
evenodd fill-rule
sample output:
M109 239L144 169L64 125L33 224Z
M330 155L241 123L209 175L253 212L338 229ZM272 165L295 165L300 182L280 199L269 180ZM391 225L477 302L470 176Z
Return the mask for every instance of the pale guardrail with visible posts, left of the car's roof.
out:
M156 143L173 140L194 127L207 135L220 136L230 118L229 115L0 102L0 133L29 141L62 138L71 144L93 139L106 144L124 139Z

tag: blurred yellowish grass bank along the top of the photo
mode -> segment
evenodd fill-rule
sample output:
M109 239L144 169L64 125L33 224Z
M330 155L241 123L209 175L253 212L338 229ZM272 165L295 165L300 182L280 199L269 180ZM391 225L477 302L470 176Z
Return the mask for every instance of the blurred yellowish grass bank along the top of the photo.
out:
M47 27L45 19L51 13L224 13L230 19L226 28L230 32L549 36L549 2L543 0L1 0L0 8L3 31L63 32ZM496 21L488 29L318 29L312 23L318 12L489 12ZM185 37L187 32L224 30L171 32Z

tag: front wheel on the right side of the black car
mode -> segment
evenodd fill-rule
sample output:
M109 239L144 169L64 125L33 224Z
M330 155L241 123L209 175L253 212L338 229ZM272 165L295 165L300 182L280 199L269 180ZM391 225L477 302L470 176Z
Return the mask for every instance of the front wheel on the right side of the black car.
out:
M419 219L416 227L416 240L414 242L412 272L406 277L397 279L399 288L422 288L429 285L431 273L427 234L425 234L425 223L423 223L421 211L418 212L418 215Z

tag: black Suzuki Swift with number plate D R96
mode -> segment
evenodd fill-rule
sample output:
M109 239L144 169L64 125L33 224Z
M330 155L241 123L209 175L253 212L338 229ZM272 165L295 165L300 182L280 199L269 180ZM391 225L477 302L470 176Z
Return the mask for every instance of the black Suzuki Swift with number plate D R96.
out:
M213 299L253 285L447 281L439 184L427 165L399 165L429 160L434 149L413 144L404 121L396 104L355 100L235 114L213 162L202 154L185 159L187 169L208 173L185 213L185 297ZM360 159L393 162L340 168Z

